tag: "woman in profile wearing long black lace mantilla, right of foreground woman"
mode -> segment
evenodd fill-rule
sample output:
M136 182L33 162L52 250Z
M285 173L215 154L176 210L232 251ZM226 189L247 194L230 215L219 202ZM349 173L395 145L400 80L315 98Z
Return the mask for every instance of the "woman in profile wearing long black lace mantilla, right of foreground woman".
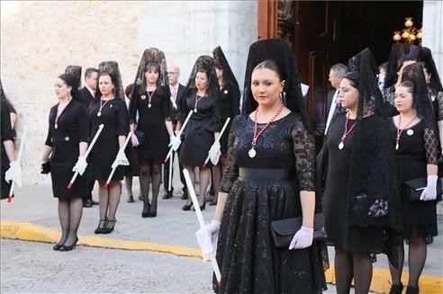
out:
M349 59L339 88L339 101L348 112L332 120L321 151L328 160L323 213L328 241L335 247L338 293L348 293L353 279L356 293L369 291L370 254L384 252L384 232L399 230L393 216L398 210L393 152L387 121L377 113L383 98L376 71L369 49Z

